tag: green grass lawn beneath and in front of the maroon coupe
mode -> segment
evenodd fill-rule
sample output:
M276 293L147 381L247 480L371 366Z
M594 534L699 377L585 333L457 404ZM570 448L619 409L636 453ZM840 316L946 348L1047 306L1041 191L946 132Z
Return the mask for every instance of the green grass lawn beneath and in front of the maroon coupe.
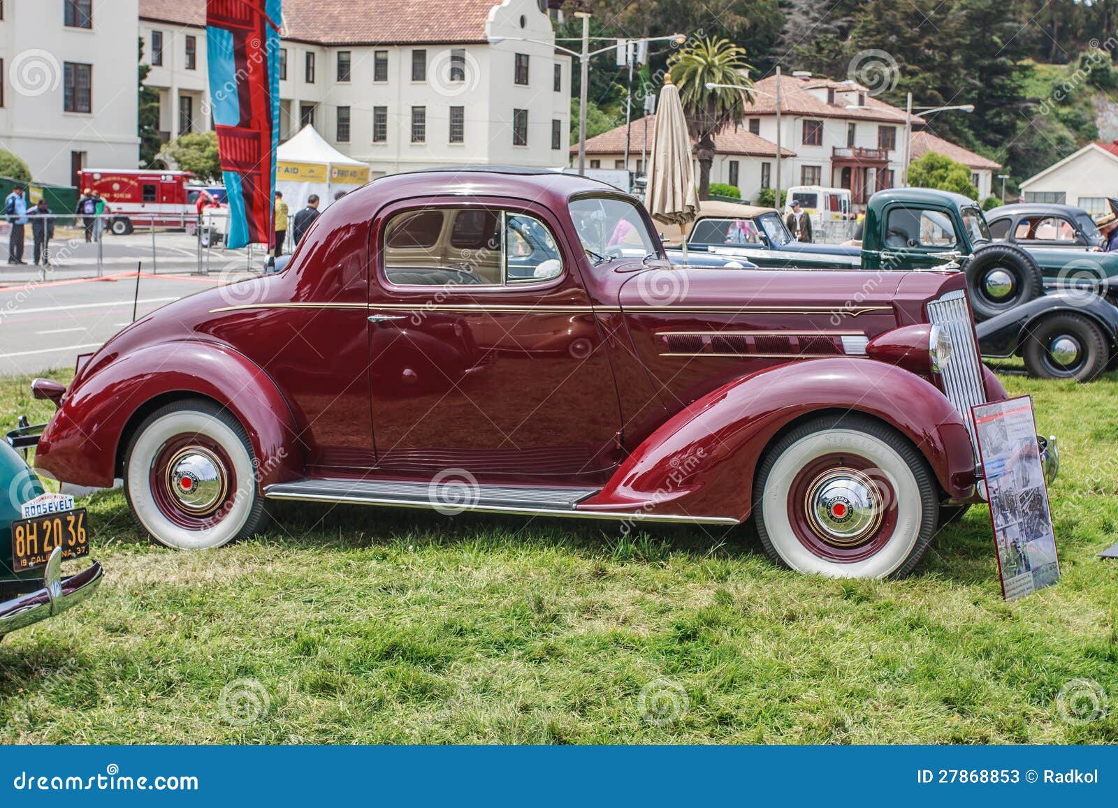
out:
M4 429L48 415L28 382ZM985 506L880 582L779 570L747 529L309 505L177 553L103 492L98 597L0 644L0 742L1118 742L1118 374L1005 383L1063 455L1063 580L1021 601Z

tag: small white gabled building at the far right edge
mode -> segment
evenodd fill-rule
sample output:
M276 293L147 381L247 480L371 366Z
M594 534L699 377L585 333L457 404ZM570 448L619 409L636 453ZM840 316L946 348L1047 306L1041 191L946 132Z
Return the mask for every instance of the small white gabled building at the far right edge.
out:
M1118 141L1088 143L1021 183L1025 202L1074 205L1089 213L1107 211L1118 188Z

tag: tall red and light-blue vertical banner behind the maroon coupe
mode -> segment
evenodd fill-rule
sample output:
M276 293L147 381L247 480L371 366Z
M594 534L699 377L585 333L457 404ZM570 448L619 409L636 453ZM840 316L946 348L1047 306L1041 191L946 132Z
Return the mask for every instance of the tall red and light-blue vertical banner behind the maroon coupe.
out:
M229 200L229 247L272 241L281 25L281 0L206 0L210 104Z

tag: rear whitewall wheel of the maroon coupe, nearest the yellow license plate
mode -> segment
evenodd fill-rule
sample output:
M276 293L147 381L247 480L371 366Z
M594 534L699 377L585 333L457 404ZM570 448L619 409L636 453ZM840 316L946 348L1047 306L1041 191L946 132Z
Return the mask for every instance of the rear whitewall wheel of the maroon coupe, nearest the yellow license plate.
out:
M124 491L152 539L178 550L219 548L266 517L248 434L203 399L144 419L125 454Z

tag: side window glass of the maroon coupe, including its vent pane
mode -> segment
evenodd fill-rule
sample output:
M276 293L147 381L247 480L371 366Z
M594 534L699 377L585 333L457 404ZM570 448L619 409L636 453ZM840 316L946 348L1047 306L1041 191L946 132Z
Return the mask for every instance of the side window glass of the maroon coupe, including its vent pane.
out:
M490 208L398 213L385 236L398 286L506 286L559 277L562 256L539 219Z

